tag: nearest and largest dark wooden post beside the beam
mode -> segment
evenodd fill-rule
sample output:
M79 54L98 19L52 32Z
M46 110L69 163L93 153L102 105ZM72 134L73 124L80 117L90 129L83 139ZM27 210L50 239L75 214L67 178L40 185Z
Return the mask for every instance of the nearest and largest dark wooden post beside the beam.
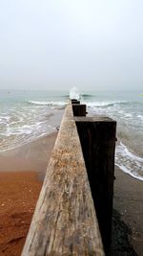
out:
M112 234L116 122L107 117L75 117L105 251Z

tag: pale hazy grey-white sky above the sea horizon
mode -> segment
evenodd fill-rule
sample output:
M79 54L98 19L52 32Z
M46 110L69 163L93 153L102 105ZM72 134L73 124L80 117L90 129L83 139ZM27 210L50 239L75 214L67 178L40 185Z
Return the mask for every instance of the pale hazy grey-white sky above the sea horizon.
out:
M0 88L143 89L142 0L0 0Z

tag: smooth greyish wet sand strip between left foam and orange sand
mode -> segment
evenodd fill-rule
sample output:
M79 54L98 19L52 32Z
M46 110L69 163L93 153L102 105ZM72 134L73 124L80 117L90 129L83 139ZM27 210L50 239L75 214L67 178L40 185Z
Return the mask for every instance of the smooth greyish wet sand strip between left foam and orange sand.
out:
M9 151L0 152L0 172L34 170L45 175L57 131Z

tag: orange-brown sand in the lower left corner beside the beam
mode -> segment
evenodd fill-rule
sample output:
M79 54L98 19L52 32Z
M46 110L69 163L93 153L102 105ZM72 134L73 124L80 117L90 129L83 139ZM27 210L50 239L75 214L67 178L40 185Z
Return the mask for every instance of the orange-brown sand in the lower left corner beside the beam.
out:
M40 189L35 172L0 173L0 255L21 254Z

